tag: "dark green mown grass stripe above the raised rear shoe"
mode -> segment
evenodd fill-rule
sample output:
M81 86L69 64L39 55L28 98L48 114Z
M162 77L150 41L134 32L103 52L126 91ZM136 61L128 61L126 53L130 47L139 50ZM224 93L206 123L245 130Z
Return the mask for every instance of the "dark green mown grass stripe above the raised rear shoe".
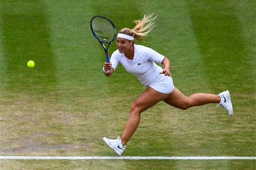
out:
M246 93L253 92L252 75L248 73L252 67L246 59L247 41L242 34L235 3L196 1L188 3L188 8L208 85L219 91L237 92L242 87Z

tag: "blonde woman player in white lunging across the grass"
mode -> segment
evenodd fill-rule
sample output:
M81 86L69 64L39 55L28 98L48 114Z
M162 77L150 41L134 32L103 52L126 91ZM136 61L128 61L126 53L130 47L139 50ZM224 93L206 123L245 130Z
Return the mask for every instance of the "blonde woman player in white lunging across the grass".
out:
M104 74L111 76L120 63L127 72L132 73L140 83L147 87L131 105L129 119L121 138L119 136L114 140L103 138L106 144L118 155L124 152L127 141L136 131L140 121L140 113L156 105L159 101L164 101L182 110L193 106L218 103L217 106L223 106L229 115L233 115L231 97L228 91L219 94L196 93L187 97L173 85L170 60L149 47L134 44L134 39L143 40L152 30L155 18L152 15L144 15L141 21L134 21L136 26L133 29L120 30L117 35L118 50L113 52L110 63L104 63L103 66ZM156 63L163 64L164 69Z

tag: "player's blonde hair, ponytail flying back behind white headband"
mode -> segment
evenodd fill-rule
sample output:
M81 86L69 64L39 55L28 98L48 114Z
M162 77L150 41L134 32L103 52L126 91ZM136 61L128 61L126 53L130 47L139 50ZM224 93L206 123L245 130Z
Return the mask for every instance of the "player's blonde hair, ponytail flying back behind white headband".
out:
M136 20L136 26L133 29L123 28L119 31L119 33L123 33L125 35L129 35L134 37L137 40L144 40L144 37L154 28L154 19L157 16L153 17L153 14L144 15L142 21Z

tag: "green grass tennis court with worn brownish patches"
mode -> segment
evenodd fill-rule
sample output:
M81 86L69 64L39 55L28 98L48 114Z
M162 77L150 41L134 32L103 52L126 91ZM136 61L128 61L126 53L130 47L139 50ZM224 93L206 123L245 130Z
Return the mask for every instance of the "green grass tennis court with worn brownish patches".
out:
M214 104L182 111L160 102L142 113L122 156L255 157L256 3L103 2L0 2L0 155L116 156L102 138L122 134L145 87L120 64L104 76L90 19L105 15L119 31L153 12L143 45L171 60L174 85L187 96L229 90L234 115ZM255 167L255 160L0 160L1 169Z

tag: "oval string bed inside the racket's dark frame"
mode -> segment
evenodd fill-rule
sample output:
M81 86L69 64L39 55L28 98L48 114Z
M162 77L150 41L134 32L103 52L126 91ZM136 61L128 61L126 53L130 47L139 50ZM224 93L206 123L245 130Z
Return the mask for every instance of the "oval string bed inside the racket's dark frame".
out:
M114 38L113 25L105 18L96 17L92 21L92 28L97 37L103 42L111 42Z

